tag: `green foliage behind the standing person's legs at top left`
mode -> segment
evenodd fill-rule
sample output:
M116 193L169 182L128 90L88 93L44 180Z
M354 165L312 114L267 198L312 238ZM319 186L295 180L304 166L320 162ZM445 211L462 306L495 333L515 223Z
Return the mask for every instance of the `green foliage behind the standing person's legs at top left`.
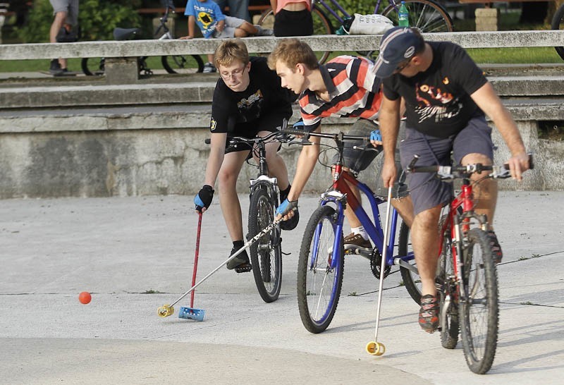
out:
M113 39L115 27L138 27L137 8L141 0L81 0L78 24L81 40ZM35 0L27 23L18 30L23 42L49 42L49 29L53 22L53 8L49 0Z

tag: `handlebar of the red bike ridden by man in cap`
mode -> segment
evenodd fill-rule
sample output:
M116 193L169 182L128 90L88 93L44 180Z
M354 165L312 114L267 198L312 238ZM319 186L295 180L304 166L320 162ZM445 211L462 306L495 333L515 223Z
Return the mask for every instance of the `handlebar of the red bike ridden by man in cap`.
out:
M467 164L466 166L418 166L415 163L419 160L419 155L414 155L410 164L407 166L408 173L436 173L441 179L465 178L472 173L482 173L482 171L493 171L492 178L510 178L509 165L487 166L485 164ZM529 154L529 169L534 169L533 155ZM455 175L456 174L456 175Z

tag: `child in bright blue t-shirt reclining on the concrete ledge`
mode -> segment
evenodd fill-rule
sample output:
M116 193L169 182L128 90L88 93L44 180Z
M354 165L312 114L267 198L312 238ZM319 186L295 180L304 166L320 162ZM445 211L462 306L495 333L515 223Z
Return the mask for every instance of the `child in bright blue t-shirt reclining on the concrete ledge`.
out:
M188 0L184 14L188 16L188 36L180 37L180 39L195 37L195 25L200 28L202 36L206 39L272 35L271 31L263 30L258 25L223 15L219 6L212 0ZM210 54L207 59L207 63L204 64L204 73L216 72L213 64L214 56Z

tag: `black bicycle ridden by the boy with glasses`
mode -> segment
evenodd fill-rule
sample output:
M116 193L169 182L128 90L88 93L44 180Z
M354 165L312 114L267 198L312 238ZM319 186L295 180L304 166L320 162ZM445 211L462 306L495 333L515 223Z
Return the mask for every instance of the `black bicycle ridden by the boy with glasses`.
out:
M276 131L265 137L241 138L233 137L229 146L252 147L252 155L257 157L259 170L257 178L250 180L249 233L247 239L255 237L264 228L272 224L275 210L278 207L278 182L269 176L266 164L266 143L291 142L293 137ZM206 140L209 143L209 140ZM251 159L251 158L250 158ZM249 160L250 160L249 159ZM247 163L251 164L249 161ZM254 166L254 164L252 164ZM249 248L253 277L259 294L264 302L278 299L282 286L282 238L280 227L262 236Z

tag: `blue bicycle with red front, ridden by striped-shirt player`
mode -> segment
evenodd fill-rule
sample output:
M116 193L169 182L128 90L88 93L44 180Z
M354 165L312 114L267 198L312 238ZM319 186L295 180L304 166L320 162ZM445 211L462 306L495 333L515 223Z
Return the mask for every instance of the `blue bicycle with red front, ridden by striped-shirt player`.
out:
M285 131L294 135L304 135L300 130L286 129ZM421 286L417 278L418 272L413 252L408 250L409 227L402 221L398 254L394 255L398 212L396 209L391 211L388 241L384 243L384 226L379 221L379 205L386 201L377 197L366 184L343 171L345 140L364 140L368 145L369 139L343 133L309 133L307 135L334 140L338 151L338 161L333 165L333 183L321 194L319 207L309 218L300 247L298 307L305 329L311 333L321 333L331 324L335 315L343 285L345 264L343 219L347 204L353 209L375 245L371 252L360 253L363 257L370 259L373 274L376 278L384 279L390 273L393 265L399 266L407 291L419 304ZM307 141L302 143L307 144ZM367 197L374 220L370 219L367 212L364 211L348 183L357 186L360 192ZM382 271L381 255L383 255L385 244L388 245L385 253L386 267Z

